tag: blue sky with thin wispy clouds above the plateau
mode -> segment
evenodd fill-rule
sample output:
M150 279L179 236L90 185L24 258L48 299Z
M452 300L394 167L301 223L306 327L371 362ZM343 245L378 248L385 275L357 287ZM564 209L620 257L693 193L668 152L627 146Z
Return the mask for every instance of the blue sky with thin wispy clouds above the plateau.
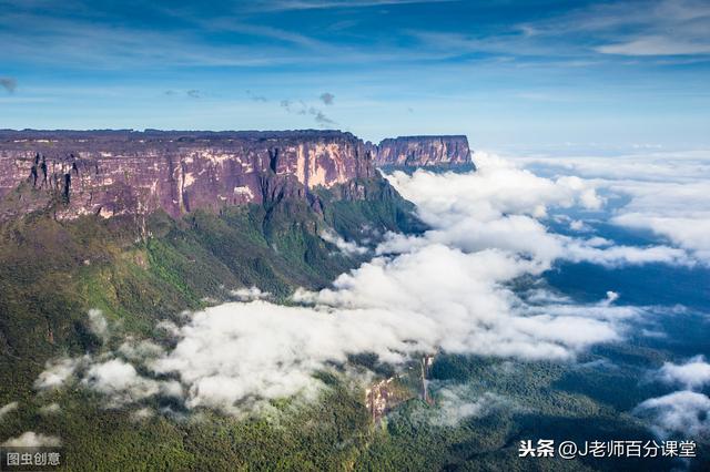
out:
M0 0L0 127L710 144L708 1Z

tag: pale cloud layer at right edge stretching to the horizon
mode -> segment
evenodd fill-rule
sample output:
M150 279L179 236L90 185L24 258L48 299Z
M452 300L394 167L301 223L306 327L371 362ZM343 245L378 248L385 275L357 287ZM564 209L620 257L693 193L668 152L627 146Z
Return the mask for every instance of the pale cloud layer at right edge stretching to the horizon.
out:
M547 172L576 174L609 197L626 199L610 223L646 229L710 264L710 151L609 157L524 157Z

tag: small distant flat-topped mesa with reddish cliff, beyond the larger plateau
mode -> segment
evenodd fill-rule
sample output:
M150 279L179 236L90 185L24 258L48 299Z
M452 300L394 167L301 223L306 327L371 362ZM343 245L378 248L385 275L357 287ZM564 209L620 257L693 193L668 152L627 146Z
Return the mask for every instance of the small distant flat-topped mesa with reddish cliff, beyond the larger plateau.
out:
M383 167L473 167L466 136L400 136L377 146Z

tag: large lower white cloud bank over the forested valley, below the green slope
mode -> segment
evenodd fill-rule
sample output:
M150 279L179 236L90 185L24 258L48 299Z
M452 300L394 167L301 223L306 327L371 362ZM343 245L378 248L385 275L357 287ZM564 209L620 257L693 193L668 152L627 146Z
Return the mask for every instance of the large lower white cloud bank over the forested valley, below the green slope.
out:
M338 277L332 289L301 290L287 307L233 302L197 312L175 349L151 368L178 373L187 406L234 411L260 399L303 394L313 372L374 352L398 363L439 347L450 352L570 359L620 339L638 311L600 305L527 306L501 283L538 273L530 260L495 249L465 254L432 244L378 257Z

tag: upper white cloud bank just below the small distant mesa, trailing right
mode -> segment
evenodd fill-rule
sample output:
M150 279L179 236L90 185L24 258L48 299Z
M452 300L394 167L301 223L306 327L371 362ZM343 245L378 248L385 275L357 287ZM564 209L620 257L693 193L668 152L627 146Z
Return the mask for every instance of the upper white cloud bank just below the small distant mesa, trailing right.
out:
M500 157L477 153L478 172L409 176L395 173L390 183L417 205L419 216L434 229L425 238L389 235L378 253L402 253L429 243L466 252L489 247L534 257L550 265L556 259L625 264L690 264L686 253L668 246L601 247L599 238L581 239L550 233L539 218L550 206L600 209L595 184L577 176L544 178ZM608 164L608 163L607 163Z

